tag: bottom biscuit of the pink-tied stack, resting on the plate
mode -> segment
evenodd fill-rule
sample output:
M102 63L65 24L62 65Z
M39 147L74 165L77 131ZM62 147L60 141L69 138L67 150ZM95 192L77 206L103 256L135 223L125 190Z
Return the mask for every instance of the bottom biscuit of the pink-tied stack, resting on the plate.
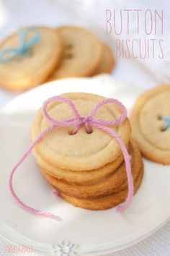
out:
M143 179L143 168L140 169L137 179L134 181L134 193L137 192L138 188ZM66 202L71 203L72 205L85 208L88 210L106 210L116 205L119 205L121 202L124 202L127 195L128 189L122 190L112 195L107 195L104 197L98 197L94 199L79 199L76 197L71 197L65 195L64 193L59 193L59 195L65 200Z

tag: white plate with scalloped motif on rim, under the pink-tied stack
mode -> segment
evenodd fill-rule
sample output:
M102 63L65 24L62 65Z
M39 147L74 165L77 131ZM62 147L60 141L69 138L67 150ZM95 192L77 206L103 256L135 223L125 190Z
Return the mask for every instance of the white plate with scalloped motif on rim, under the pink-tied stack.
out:
M75 208L53 195L30 155L14 176L17 194L28 205L48 210L63 221L33 216L19 208L9 193L8 179L12 166L30 144L33 116L50 96L75 91L117 98L129 110L143 89L107 75L59 80L19 95L1 111L0 233L50 255L101 255L140 241L168 221L170 166L144 161L143 183L124 213L115 209L91 211Z

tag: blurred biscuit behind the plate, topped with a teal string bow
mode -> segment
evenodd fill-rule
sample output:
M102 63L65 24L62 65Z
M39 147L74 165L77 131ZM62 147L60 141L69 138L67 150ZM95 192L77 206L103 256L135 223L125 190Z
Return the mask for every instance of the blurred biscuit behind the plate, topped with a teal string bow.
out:
M27 29L27 28L26 28ZM44 82L61 63L63 40L58 31L48 27L35 27L40 40L24 56L17 55L9 62L0 62L0 85L10 90L26 90ZM27 32L27 42L34 33ZM1 44L6 48L19 48L19 33L9 35Z

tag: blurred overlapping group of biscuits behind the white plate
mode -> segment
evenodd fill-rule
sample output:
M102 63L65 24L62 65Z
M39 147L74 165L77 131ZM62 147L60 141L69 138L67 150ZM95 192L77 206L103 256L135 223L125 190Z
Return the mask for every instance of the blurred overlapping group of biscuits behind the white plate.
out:
M22 45L26 48L36 33L40 39L23 52ZM10 59L12 54L14 58ZM109 73L114 64L109 46L83 27L26 27L0 44L0 85L10 90L27 90L64 77Z

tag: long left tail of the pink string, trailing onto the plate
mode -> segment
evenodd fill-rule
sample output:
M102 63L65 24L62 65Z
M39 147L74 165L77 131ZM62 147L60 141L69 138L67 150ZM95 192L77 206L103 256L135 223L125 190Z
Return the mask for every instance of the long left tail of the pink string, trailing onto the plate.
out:
M14 197L14 200L17 201L18 205L26 210L28 213L32 213L35 214L37 216L42 216L42 217L46 217L46 218L53 218L56 221L61 221L61 218L59 216L55 216L52 213L48 213L46 211L43 210L37 210L35 208L32 208L26 204L24 204L24 202L22 202L22 200L19 199L19 197L17 196L17 193L14 191L14 187L13 187L13 178L14 178L14 174L17 171L17 168L19 168L19 166L22 164L22 162L24 161L25 158L27 158L28 155L30 155L30 153L32 152L32 149L35 147L35 145L37 144L37 142L40 141L40 139L42 138L43 135L45 135L46 133L50 132L54 127L48 127L47 129L45 129L44 131L42 131L40 133L40 135L38 135L36 137L36 139L32 142L32 144L30 145L29 148L27 148L27 150L25 151L24 155L22 155L22 158L19 159L19 161L16 163L16 165L12 168L12 172L9 176L9 189L10 192L12 193L12 196Z

